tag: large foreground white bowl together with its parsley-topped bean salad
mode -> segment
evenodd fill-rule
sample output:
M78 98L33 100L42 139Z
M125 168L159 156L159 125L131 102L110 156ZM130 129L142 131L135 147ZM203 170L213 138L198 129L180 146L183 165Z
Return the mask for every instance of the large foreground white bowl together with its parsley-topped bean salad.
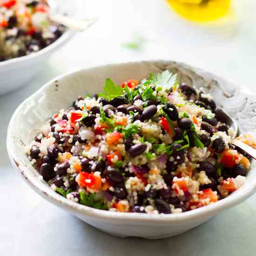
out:
M169 237L255 192L254 162L230 143L236 136L256 147L254 104L183 63L94 67L55 78L24 101L7 149L32 189L90 225Z

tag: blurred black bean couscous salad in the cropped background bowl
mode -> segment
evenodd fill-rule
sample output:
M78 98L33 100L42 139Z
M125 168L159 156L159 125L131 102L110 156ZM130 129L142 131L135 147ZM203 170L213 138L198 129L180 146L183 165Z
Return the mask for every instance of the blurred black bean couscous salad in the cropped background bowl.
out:
M65 27L49 19L44 0L0 0L0 61L38 52Z

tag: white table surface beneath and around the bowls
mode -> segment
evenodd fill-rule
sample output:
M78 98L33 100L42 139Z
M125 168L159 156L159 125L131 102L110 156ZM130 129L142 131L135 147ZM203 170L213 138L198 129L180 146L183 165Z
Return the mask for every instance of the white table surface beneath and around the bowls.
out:
M256 3L237 0L235 4L237 20L213 28L180 19L164 0L83 0L85 13L100 13L101 20L54 54L26 87L0 96L1 256L255 255L256 195L179 236L155 241L118 238L41 199L14 172L6 151L7 124L15 108L45 82L71 69L174 59L256 92ZM142 51L121 47L134 32L148 39Z

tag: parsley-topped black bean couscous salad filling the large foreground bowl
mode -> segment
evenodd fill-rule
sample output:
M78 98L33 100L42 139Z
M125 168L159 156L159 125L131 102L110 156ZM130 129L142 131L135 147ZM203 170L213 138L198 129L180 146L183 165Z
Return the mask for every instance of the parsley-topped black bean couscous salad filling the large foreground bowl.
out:
M250 168L212 96L168 70L121 86L108 78L104 93L80 96L41 131L26 147L40 177L96 209L182 213L239 189Z

